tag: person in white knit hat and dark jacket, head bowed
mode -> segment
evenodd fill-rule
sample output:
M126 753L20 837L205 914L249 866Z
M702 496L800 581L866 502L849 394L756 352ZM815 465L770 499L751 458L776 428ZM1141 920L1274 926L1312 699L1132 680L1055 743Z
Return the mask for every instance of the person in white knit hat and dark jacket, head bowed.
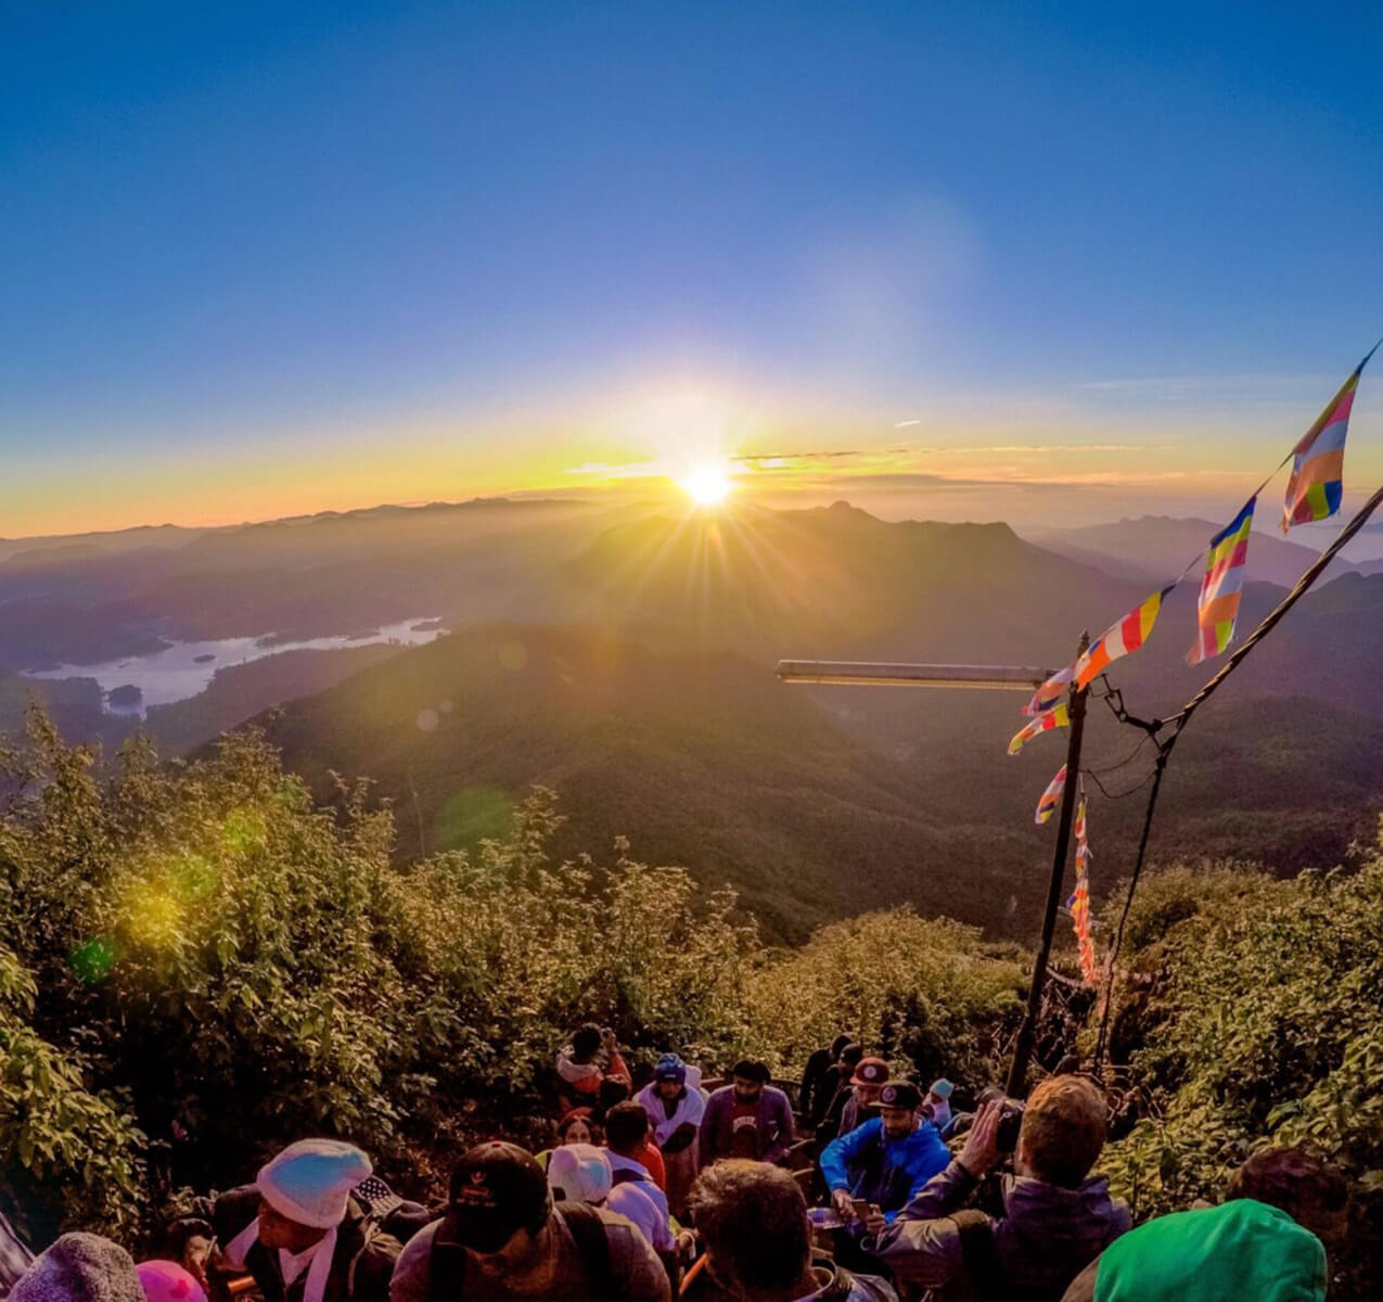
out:
M252 1274L274 1302L384 1302L402 1245L351 1197L369 1176L354 1144L289 1144L253 1184L201 1200L205 1218L183 1222L183 1266L203 1285L209 1265Z

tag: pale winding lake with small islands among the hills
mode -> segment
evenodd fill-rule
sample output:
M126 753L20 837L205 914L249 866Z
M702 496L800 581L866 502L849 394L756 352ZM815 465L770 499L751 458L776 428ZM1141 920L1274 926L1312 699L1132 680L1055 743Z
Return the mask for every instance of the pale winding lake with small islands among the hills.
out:
M394 642L400 646L420 646L441 636L441 628L431 616L418 616L397 624L384 624L360 636L308 638L301 642L278 642L272 634L259 638L220 638L214 642L174 642L148 656L127 656L105 664L59 664L55 670L36 670L29 678L94 678L102 692L113 692L127 684L140 689L141 700L134 704L106 702L108 714L144 718L149 706L169 706L206 690L217 670L264 656L289 650L339 650L346 646L371 646Z

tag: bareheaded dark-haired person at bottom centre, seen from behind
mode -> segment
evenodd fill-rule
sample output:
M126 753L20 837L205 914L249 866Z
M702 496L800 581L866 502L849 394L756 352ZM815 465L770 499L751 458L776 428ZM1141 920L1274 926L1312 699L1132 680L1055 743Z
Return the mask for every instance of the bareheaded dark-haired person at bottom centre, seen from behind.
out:
M685 1288L689 1302L898 1302L881 1278L813 1260L806 1198L781 1166L716 1162L697 1177L692 1211L709 1287Z

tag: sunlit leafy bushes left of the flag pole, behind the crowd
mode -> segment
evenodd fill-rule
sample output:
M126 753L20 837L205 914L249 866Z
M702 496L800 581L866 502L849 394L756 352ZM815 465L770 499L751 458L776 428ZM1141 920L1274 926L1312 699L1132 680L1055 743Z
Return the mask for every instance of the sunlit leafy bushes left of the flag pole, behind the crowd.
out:
M189 764L131 743L102 779L41 715L32 742L4 755L0 1194L37 1237L129 1233L169 1187L243 1179L304 1133L415 1162L481 1129L538 1139L585 1020L636 1063L797 1070L849 1024L979 1070L976 1028L1021 982L972 928L907 910L768 951L733 891L622 838L609 866L553 862L544 790L503 838L398 868L364 783L317 807L253 731Z

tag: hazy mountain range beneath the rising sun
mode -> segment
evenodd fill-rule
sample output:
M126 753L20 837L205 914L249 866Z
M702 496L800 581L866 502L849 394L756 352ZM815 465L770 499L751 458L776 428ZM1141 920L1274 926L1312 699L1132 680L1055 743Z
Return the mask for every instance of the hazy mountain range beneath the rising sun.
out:
M1192 533L1203 545L1205 522L1171 523L1131 533L1164 537L1169 555ZM160 535L93 552L61 540L0 563L0 659L32 670L94 663L115 643L138 656L169 641L436 617L451 634L427 646L288 652L221 670L144 726L177 753L253 717L321 796L331 772L369 775L396 805L401 859L474 844L542 783L568 816L560 852L604 854L626 834L640 858L733 883L786 938L899 899L1028 935L1052 834L1032 811L1064 747L1041 737L1005 754L1022 696L784 686L773 666L1059 667L1080 630L1102 630L1160 573L1151 541L1123 552L1134 571L1111 573L1124 562L1108 559L1119 553L1109 529L1070 556L1005 524L888 523L845 504L703 515L476 502L176 545ZM1254 534L1253 573L1261 555L1285 577L1297 551ZM1194 591L1188 581L1173 594L1149 646L1111 674L1145 718L1207 677L1181 659ZM1282 595L1249 584L1243 627ZM1379 646L1383 576L1322 581L1178 744L1155 854L1290 872L1339 862L1353 836L1369 834L1383 793ZM17 721L30 684L0 674L0 722ZM102 714L79 670L40 690L69 737L115 744L136 726ZM1099 700L1091 711L1098 892L1127 866L1151 747L1137 749L1141 735Z

